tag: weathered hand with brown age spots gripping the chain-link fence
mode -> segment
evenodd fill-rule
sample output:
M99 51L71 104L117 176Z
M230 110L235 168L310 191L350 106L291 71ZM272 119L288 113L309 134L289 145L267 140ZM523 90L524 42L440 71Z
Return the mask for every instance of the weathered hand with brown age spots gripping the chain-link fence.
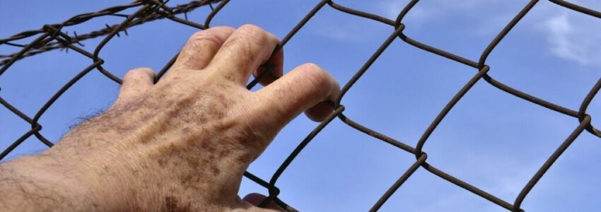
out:
M59 187L53 194L86 196L79 208L96 211L262 210L237 195L248 165L301 112L325 119L333 108L323 102L339 95L315 64L282 76L282 52L269 59L278 43L254 25L196 33L156 85L150 69L129 71L110 110L2 167L43 175L35 180ZM251 92L257 69L281 78Z

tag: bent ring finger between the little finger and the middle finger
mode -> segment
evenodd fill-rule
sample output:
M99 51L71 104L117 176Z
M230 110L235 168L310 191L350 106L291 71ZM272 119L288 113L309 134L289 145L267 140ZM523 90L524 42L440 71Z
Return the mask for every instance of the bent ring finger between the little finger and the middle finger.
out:
M204 69L233 32L231 27L220 26L194 33L182 48L173 66L182 69Z

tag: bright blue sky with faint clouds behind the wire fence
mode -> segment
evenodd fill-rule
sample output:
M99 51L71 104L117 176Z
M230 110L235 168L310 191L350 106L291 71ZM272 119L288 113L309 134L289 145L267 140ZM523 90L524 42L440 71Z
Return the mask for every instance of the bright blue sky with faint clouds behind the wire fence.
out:
M79 13L129 1L5 1L0 37L60 23ZM317 0L231 1L212 25L259 25L282 38ZM335 1L395 19L408 0ZM421 1L407 14L404 33L428 45L477 61L486 45L528 1ZM601 10L597 1L571 1ZM185 1L171 1L170 5ZM50 9L49 9L50 8ZM131 11L130 11L131 12ZM188 14L199 23L209 8ZM103 17L65 28L83 34L121 19ZM601 20L541 1L491 53L489 75L530 95L578 110L600 78ZM325 6L284 47L284 72L313 62L344 85L395 29ZM196 30L159 20L128 30L100 52L116 76L147 66L159 70ZM83 42L88 51L99 39ZM18 48L0 45L0 54ZM37 110L64 83L91 64L74 52L28 57L0 76L0 96L25 114ZM395 40L342 99L344 114L411 146L444 105L477 70ZM118 85L92 71L42 116L42 134L58 141L79 117L110 106ZM257 88L258 89L258 88ZM598 99L588 114L601 113ZM317 126L304 116L288 124L249 171L269 179L299 142ZM578 120L477 83L440 123L424 146L428 163L513 203L530 177L578 126ZM0 149L30 126L0 107ZM45 146L26 140L7 159L35 154ZM599 139L583 133L556 161L523 202L525 211L598 211L601 208ZM7 160L5 159L5 160ZM414 163L414 155L334 119L291 163L276 186L280 199L301 211L367 211ZM240 196L267 189L244 179ZM506 211L420 168L381 211Z

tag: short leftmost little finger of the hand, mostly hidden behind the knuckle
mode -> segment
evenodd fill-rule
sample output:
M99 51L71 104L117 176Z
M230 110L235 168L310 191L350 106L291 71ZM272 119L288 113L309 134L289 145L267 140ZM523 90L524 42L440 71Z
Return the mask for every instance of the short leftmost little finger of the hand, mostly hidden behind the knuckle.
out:
M132 100L151 88L154 85L154 75L154 71L148 68L133 69L125 73L117 102Z

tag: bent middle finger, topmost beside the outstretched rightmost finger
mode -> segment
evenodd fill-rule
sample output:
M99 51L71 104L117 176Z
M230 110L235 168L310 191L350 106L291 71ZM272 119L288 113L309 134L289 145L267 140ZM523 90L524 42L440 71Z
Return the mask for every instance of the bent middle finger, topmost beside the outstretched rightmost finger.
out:
M255 25L243 25L226 40L209 64L218 76L244 85L271 56L279 40Z

